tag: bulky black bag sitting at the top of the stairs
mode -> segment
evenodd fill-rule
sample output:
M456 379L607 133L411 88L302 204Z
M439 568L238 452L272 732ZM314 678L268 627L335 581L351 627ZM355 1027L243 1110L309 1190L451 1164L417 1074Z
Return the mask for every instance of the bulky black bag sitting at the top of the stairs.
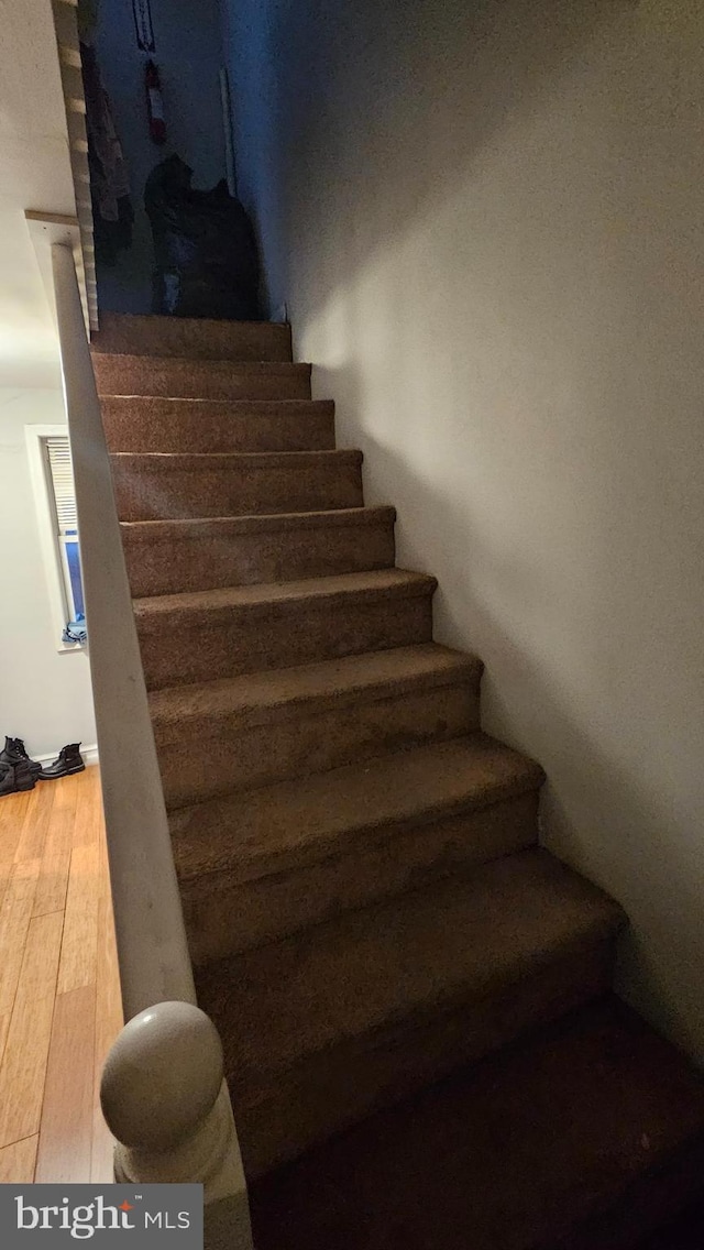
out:
M258 318L259 264L250 220L223 180L191 188L193 170L169 156L146 180L144 206L154 239L153 312Z

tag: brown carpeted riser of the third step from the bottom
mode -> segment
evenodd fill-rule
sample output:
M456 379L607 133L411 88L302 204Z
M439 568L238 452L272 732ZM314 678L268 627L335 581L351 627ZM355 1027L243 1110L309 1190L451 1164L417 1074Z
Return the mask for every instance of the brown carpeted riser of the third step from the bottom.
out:
M173 812L173 818L179 815ZM236 828L236 814L234 822ZM336 854L299 869L249 881L240 880L236 870L181 879L191 958L195 964L206 964L278 941L340 911L418 889L424 880L524 850L536 838L534 790L481 811L386 828L353 840L349 849L340 839ZM178 869L178 841L174 856Z

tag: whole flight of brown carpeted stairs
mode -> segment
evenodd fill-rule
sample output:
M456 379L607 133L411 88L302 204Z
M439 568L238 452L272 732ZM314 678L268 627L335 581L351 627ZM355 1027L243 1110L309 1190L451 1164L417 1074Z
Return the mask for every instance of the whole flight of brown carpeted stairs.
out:
M258 1250L635 1245L703 1184L704 1088L610 996L624 916L538 846L289 329L93 348Z

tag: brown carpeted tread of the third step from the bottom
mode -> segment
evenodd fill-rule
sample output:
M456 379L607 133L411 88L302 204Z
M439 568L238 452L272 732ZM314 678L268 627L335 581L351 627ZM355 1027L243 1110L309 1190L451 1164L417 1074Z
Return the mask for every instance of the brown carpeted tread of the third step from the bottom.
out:
M183 881L231 871L239 881L301 869L408 826L538 789L543 770L484 734L195 804L170 816ZM351 871L351 869L350 869Z

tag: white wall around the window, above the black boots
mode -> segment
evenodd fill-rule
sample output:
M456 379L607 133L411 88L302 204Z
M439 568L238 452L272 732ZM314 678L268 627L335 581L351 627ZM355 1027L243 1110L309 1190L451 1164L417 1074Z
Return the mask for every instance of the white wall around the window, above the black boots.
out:
M60 391L0 389L0 739L35 756L95 745L88 656L56 650L25 442L25 425L64 422Z

